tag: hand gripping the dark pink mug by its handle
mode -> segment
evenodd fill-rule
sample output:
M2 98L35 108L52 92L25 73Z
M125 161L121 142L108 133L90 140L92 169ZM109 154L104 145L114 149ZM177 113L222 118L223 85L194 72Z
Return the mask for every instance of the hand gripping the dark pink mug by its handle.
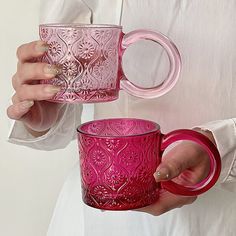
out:
M215 143L211 132L199 132ZM182 185L193 185L206 178L209 169L210 161L206 152L196 143L182 142L163 157L154 177L157 182L173 179ZM139 211L158 216L174 208L191 204L196 199L196 196L184 197L161 189L158 201Z

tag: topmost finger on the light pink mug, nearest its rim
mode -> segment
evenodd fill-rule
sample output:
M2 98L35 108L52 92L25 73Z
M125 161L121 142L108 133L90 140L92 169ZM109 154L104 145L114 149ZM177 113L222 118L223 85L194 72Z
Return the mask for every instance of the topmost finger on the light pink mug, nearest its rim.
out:
M48 50L48 45L43 41L34 41L18 47L17 58L21 62L30 61L42 56Z

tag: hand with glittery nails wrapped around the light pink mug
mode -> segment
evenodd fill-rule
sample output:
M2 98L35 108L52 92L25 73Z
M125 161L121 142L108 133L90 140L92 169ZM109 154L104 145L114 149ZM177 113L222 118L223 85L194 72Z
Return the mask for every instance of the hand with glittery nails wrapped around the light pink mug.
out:
M52 98L60 87L40 84L40 80L52 79L59 68L46 63L34 62L48 50L48 45L35 41L21 45L17 50L17 72L12 78L15 94L8 107L8 117L22 121L35 136L47 132L57 119L60 104L44 100Z

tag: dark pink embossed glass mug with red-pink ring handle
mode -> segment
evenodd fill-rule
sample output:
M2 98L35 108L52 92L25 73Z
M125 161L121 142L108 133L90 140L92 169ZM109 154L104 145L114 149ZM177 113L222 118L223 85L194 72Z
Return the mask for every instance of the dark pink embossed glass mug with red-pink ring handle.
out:
M78 145L83 201L105 210L128 210L157 201L161 188L184 196L196 196L217 181L221 159L215 145L192 130L162 134L152 121L132 118L95 120L80 125ZM208 153L208 176L193 186L173 181L160 184L153 177L165 149L178 140L200 144Z

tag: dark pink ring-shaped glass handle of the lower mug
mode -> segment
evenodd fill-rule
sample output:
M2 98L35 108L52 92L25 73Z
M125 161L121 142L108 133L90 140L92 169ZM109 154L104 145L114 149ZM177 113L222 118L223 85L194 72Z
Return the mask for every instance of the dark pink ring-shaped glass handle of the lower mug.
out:
M210 159L210 170L208 176L201 182L191 185L183 186L171 180L161 182L161 188L177 195L196 196L209 190L217 181L221 171L220 154L216 146L203 134L193 130L180 129L172 131L168 134L162 134L161 139L161 154L172 143L179 140L189 140L200 144L207 152Z

